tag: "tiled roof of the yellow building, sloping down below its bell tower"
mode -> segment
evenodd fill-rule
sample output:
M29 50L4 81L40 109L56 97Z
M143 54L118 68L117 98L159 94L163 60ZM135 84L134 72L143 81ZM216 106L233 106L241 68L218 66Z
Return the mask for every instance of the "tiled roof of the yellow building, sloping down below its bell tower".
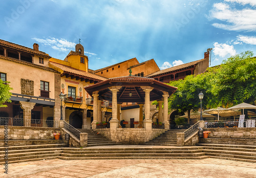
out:
M65 71L65 72L74 73L77 75L81 75L83 77L88 77L88 78L96 79L96 80L100 80L100 81L108 80L107 78L101 77L99 75L96 75L96 74L93 74L90 72L86 72L86 71L82 71L82 70L78 70L76 68L73 68L73 67L70 67L67 65L59 64L59 63L52 62L52 61L50 61L50 64L54 65L55 67L60 68L61 70Z

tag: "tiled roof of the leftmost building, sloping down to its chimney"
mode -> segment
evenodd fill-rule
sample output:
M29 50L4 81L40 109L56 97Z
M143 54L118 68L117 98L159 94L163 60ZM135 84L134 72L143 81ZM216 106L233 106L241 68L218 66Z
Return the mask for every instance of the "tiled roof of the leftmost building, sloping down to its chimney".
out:
M32 53L32 54L35 54L35 55L44 56L46 58L51 58L48 54L46 54L44 52L41 52L39 50L34 50L32 48L25 47L25 46L22 46L22 45L18 45L18 44L15 44L15 43L11 43L11 42L1 40L1 39L0 39L0 45L11 47L11 48L18 49L18 50L22 50L22 51Z

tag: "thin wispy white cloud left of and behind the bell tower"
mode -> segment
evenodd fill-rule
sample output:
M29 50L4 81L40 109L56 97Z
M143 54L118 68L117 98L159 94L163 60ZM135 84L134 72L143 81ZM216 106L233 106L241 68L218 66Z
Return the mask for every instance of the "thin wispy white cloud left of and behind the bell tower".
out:
M46 39L32 38L32 40L35 40L38 43L42 43L44 45L51 46L53 49L59 50L61 52L67 52L70 49L74 49L75 45L76 45L75 43L70 42L63 38L61 38L61 39L57 39L57 38L53 38L53 37L49 37Z

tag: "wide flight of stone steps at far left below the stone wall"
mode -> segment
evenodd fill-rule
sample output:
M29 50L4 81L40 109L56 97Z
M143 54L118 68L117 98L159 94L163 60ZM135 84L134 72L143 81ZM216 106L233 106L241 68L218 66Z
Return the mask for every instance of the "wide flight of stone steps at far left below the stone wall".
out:
M4 141L1 141L1 145ZM19 163L56 159L67 143L63 140L8 140L8 162ZM5 163L6 148L0 147L0 164Z

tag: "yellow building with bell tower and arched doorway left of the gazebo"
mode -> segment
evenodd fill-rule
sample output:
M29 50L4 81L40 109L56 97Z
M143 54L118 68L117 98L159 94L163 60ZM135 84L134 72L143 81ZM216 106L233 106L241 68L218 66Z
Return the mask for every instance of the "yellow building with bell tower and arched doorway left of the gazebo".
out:
M107 80L93 74L88 69L88 57L84 55L83 46L77 44L75 52L71 51L65 60L50 59L49 66L61 73L61 92L65 94L62 103L63 119L77 129L91 129L93 121L93 99L83 87ZM111 117L109 102L100 101L101 120Z

